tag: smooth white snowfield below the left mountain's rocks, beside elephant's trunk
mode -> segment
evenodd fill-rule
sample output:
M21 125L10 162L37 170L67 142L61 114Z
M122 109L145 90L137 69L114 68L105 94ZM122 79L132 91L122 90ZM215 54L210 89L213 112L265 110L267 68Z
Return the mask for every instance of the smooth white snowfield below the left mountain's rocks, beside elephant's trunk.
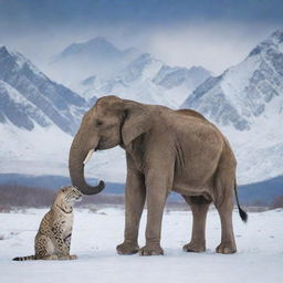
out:
M41 127L34 122L31 132L7 122L0 124L0 171L42 175L67 175L67 156L72 136L52 125ZM55 137L55 138L54 138Z

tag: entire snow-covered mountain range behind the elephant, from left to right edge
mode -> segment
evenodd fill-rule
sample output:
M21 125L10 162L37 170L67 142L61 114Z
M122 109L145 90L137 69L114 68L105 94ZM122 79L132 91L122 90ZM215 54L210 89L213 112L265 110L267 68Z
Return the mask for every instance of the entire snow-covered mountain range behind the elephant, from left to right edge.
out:
M80 72L75 64L83 57ZM107 62L102 72L99 60ZM82 114L97 97L114 94L202 113L230 140L239 184L282 176L283 31L219 76L201 66L169 66L135 49L118 50L103 38L71 44L54 56L50 69L65 70L60 82L72 81L69 71L77 71L77 78L66 83L73 91L20 53L0 48L2 174L67 176L69 148ZM86 175L124 182L125 167L124 151L114 148L97 153Z

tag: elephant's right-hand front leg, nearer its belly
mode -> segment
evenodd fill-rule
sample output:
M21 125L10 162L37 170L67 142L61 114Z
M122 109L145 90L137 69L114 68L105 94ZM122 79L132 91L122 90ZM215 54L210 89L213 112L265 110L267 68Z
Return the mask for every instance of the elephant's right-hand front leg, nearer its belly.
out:
M164 254L160 247L161 222L164 207L168 195L166 181L159 176L147 178L147 226L146 226L146 245L140 249L140 255Z

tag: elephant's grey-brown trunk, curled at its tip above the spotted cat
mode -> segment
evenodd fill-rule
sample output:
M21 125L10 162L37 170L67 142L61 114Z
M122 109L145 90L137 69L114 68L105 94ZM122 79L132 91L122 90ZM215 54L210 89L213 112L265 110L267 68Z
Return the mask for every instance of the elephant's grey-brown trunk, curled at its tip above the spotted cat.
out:
M83 139L80 138L80 133L76 134L70 149L69 171L73 186L76 186L84 195L95 195L105 188L104 181L99 181L97 186L90 186L84 178L84 160L90 151L85 148ZM94 145L93 148L97 146Z

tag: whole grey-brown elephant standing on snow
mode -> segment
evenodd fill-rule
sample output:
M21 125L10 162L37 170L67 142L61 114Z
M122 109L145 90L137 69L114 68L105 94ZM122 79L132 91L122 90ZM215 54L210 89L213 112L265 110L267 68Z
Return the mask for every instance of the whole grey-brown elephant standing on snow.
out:
M97 193L101 181L90 186L84 165L93 151L120 146L126 151L124 242L118 254L159 255L161 221L166 199L180 193L192 211L191 240L187 252L206 251L206 219L213 202L221 220L221 242L217 253L234 253L233 198L243 221L248 214L239 205L235 181L237 160L228 139L200 113L171 109L104 96L85 113L69 157L73 186L83 193ZM146 244L138 245L138 229L147 205Z

